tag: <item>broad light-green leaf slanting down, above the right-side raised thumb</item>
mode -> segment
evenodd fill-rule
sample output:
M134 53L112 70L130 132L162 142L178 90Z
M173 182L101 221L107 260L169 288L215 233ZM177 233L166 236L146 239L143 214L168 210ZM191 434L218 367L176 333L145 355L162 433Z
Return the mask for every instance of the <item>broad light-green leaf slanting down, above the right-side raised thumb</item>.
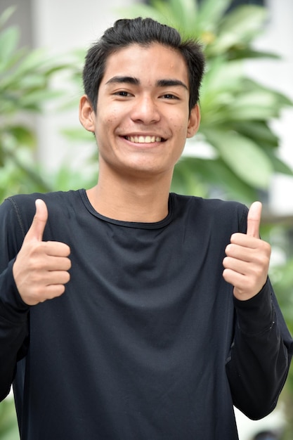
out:
M211 129L206 136L240 179L256 188L268 188L273 166L256 143L233 131Z

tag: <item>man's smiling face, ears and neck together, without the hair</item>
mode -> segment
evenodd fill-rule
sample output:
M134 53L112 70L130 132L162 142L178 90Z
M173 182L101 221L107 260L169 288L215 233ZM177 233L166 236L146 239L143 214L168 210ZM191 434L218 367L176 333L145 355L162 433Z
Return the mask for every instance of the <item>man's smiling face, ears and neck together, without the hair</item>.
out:
M159 43L123 47L108 56L96 93L96 108L89 95L80 102L81 122L99 150L90 202L118 220L164 219L174 164L200 123L198 105L189 111L183 56Z

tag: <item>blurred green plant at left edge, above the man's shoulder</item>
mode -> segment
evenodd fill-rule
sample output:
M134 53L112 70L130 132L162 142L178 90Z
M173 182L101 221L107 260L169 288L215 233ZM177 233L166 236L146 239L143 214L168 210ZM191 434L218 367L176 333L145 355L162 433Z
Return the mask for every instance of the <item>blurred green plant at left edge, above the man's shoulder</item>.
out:
M18 27L5 27L13 11L8 8L0 16L0 200L53 189L37 163L34 117L63 95L52 90L51 79L69 69L45 51L18 48Z

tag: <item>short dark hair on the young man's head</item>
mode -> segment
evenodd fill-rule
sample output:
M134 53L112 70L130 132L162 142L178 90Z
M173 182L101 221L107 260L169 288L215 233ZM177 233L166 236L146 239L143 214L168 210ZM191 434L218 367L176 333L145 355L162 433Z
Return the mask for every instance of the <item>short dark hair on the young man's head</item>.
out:
M83 70L84 93L96 112L98 89L105 73L107 59L112 53L131 44L149 46L159 43L174 48L181 53L188 67L190 88L189 110L199 99L200 84L204 73L204 55L201 44L195 39L181 38L181 34L152 18L132 18L117 20L103 36L89 48Z

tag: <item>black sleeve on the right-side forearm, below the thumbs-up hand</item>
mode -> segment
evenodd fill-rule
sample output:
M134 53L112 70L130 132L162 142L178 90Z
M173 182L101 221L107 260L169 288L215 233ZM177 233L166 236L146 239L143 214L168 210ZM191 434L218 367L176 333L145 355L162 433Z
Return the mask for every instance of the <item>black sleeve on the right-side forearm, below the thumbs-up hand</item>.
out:
M257 420L275 408L292 358L292 337L271 283L247 301L234 298L235 337L226 364L233 404Z

